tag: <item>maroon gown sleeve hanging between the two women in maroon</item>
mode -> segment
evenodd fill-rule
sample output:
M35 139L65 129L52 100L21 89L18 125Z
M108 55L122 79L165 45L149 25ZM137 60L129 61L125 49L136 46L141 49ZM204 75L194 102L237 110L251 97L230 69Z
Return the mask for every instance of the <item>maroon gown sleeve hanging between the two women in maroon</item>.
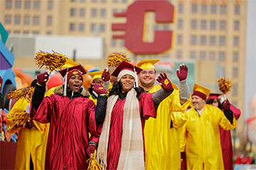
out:
M90 140L89 142L99 142L100 133L102 130L102 124L96 126L96 120L95 120L95 103L92 100L88 100L87 103L88 106L88 130L90 132Z

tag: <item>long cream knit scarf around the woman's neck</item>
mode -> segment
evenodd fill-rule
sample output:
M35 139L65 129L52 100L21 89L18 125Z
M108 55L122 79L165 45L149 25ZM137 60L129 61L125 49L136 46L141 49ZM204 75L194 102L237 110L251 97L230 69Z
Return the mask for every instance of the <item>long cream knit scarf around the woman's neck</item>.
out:
M122 144L117 170L145 169L142 122L139 113L139 100L136 95L136 91L131 89L124 103ZM115 95L110 96L107 100L107 113L97 149L97 162L100 162L104 169L107 167L111 114L117 99L118 95Z

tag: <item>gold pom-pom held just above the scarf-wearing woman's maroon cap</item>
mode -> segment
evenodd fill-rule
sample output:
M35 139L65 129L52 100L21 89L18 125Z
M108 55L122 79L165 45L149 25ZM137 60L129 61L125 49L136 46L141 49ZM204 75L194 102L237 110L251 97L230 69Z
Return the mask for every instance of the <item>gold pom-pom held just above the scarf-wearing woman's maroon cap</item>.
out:
M113 52L107 57L107 67L117 67L121 62L131 62L127 55L121 52Z

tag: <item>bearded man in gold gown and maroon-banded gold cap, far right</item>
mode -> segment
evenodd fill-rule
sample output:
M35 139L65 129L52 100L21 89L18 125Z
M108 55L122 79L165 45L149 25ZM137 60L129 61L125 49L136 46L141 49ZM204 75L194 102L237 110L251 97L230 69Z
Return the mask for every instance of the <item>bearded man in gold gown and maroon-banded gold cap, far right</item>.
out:
M183 126L183 150L186 148L187 169L224 169L219 127L231 130L237 126L228 99L224 110L206 104L210 89L195 84L192 105L186 111L188 120ZM223 113L224 112L224 113Z

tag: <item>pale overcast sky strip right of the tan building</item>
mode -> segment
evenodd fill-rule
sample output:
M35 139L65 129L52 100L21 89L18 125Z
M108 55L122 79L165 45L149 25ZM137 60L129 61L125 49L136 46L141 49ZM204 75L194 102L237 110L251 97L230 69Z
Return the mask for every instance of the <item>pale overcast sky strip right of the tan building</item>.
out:
M247 1L247 35L245 63L245 120L250 115L249 106L256 94L256 1ZM239 88L239 87L238 87ZM239 101L238 101L239 102ZM255 103L256 105L256 103Z

